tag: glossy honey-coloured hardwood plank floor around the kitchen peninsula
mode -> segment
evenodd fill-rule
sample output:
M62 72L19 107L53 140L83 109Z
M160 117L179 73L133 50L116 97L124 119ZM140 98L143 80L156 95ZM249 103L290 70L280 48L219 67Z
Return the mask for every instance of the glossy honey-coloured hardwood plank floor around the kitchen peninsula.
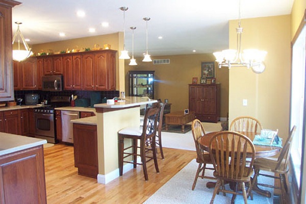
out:
M55 144L44 148L47 203L142 203L196 158L195 151L170 148L164 148L164 155L164 160L158 155L159 174L154 162L148 162L147 182L139 165L103 185L96 179L78 175L73 146Z

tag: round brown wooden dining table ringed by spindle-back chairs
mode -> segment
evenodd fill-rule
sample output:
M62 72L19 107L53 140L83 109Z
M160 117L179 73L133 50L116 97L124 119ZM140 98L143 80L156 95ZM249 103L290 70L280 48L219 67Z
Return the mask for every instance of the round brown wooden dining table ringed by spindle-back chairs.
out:
M219 132L210 132L207 133L205 135L203 135L202 137L200 137L198 139L199 144L201 145L201 147L203 148L203 150L209 151L209 143L211 138L216 135ZM254 140L255 135L257 135L257 133L253 133L253 132L239 132L240 134L243 134L245 136L247 136L251 141ZM279 151L281 151L281 147L279 146L266 146L266 145L254 145L255 147L255 158L266 158L266 157L273 157L275 155L277 155L279 153ZM247 150L248 152L248 150ZM251 154L250 154L251 155ZM248 157L248 154L247 154ZM206 184L207 188L214 188L216 185L215 182L208 182ZM252 191L255 191L261 195L264 195L266 197L271 197L271 193L269 191L265 191L262 190L258 187L258 185L254 185L252 188Z

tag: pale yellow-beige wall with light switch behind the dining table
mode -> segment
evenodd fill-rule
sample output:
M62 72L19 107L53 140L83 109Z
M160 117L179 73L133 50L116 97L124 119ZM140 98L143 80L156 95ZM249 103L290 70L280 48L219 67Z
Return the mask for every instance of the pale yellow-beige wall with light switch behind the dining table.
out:
M237 20L230 21L230 48L236 48ZM242 49L258 48L268 52L266 70L256 74L251 69L230 70L230 122L237 116L258 118L265 129L289 131L291 18L290 15L242 19ZM242 106L242 99L248 100Z

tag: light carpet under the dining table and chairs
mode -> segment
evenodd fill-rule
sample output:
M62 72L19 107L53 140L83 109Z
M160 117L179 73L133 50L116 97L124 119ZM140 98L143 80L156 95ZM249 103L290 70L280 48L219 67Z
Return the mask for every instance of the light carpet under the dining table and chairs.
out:
M172 179L170 179L166 184L164 184L159 190L157 190L151 197L149 197L144 203L145 204L177 204L177 203L210 203L210 200L213 195L214 189L206 188L206 183L208 179L198 179L195 189L192 191L191 187L193 184L194 176L196 173L198 164L195 159L192 160L188 165L186 165L179 173L175 174ZM212 176L212 171L208 170L206 173ZM268 177L259 176L259 182L264 182L270 185L274 184L274 180ZM225 188L229 188L228 185ZM270 188L262 189L269 190L273 192ZM226 196L223 196L222 193L216 195L214 203L231 203L232 194L227 193ZM273 195L271 198L259 195L256 192L253 192L253 200L248 198L248 203L273 203ZM237 195L235 203L244 203L243 196Z

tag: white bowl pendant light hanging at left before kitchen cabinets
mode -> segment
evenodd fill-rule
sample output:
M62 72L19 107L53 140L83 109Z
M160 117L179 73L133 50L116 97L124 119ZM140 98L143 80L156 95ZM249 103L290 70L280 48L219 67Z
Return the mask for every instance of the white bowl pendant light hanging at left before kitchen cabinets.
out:
M17 31L16 31L16 33L13 37L12 44L14 44L14 42L17 38L18 49L13 49L13 60L20 62L20 61L23 61L23 60L27 59L28 57L30 57L33 53L31 51L31 48L27 44L27 42L25 42L24 37L20 32L19 25L22 24L22 22L15 22L15 23L17 24ZM20 49L20 39L21 39L25 49Z

